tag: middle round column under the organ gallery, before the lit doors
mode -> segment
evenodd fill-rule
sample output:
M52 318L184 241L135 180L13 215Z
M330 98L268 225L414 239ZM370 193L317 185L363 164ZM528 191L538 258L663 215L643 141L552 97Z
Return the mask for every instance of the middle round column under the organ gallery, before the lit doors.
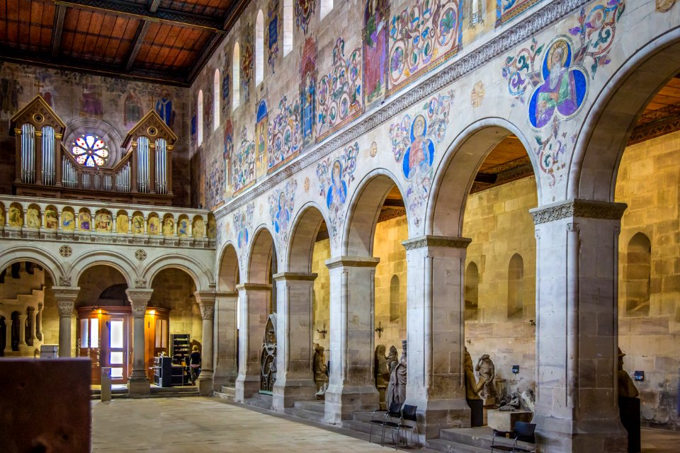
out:
M128 393L131 397L151 393L145 362L144 316L153 289L125 289L132 307L132 372L128 377Z

